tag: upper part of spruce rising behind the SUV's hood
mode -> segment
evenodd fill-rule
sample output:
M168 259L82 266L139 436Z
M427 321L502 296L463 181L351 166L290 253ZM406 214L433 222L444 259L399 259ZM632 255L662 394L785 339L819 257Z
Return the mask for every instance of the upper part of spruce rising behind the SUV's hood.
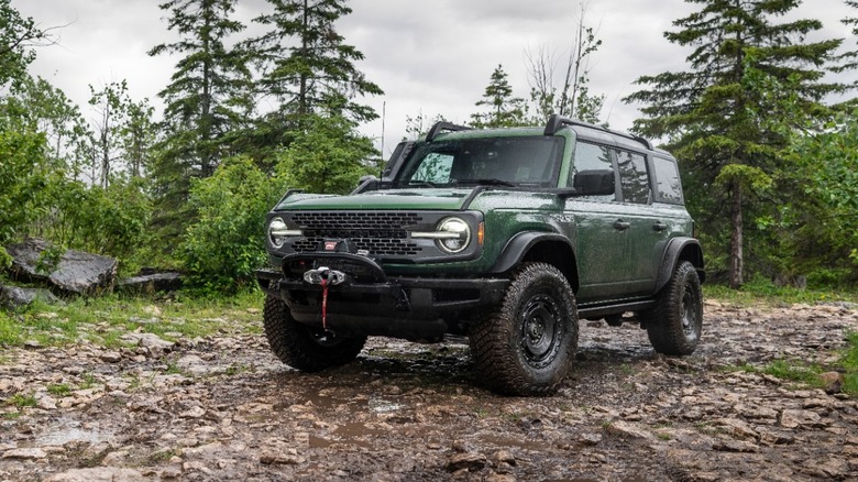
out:
M257 90L278 105L265 121L286 130L331 109L356 122L376 119L374 109L354 99L384 92L354 65L363 54L334 29L338 19L352 12L345 1L267 1L274 11L254 21L271 30L246 43L262 70Z

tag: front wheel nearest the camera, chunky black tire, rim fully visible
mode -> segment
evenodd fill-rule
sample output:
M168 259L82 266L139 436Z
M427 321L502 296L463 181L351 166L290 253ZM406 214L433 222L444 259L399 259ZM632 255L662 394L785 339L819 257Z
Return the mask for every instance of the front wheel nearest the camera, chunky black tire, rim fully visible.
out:
M565 276L550 264L522 265L502 305L472 327L470 339L476 370L495 391L557 392L578 349L578 310Z

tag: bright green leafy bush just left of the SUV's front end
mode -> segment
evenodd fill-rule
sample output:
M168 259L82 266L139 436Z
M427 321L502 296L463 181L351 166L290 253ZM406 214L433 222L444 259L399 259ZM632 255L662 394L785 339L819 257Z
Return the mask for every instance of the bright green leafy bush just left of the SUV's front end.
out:
M194 184L190 205L199 216L178 251L190 284L210 293L253 284L266 261L264 219L278 187L246 157L228 158Z

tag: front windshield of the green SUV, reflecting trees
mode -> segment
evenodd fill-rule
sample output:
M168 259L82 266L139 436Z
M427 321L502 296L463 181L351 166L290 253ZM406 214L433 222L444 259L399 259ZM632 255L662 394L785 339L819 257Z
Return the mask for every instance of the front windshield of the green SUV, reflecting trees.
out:
M563 138L559 136L435 141L415 149L394 184L553 187L562 154Z

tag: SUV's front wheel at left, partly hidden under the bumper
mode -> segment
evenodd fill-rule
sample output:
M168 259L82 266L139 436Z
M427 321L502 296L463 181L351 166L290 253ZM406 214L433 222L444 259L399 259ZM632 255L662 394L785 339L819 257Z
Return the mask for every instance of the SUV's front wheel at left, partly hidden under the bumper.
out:
M263 314L265 337L274 354L287 365L305 372L349 363L366 342L366 337L337 337L331 332L315 331L296 321L286 304L274 296L265 298Z

